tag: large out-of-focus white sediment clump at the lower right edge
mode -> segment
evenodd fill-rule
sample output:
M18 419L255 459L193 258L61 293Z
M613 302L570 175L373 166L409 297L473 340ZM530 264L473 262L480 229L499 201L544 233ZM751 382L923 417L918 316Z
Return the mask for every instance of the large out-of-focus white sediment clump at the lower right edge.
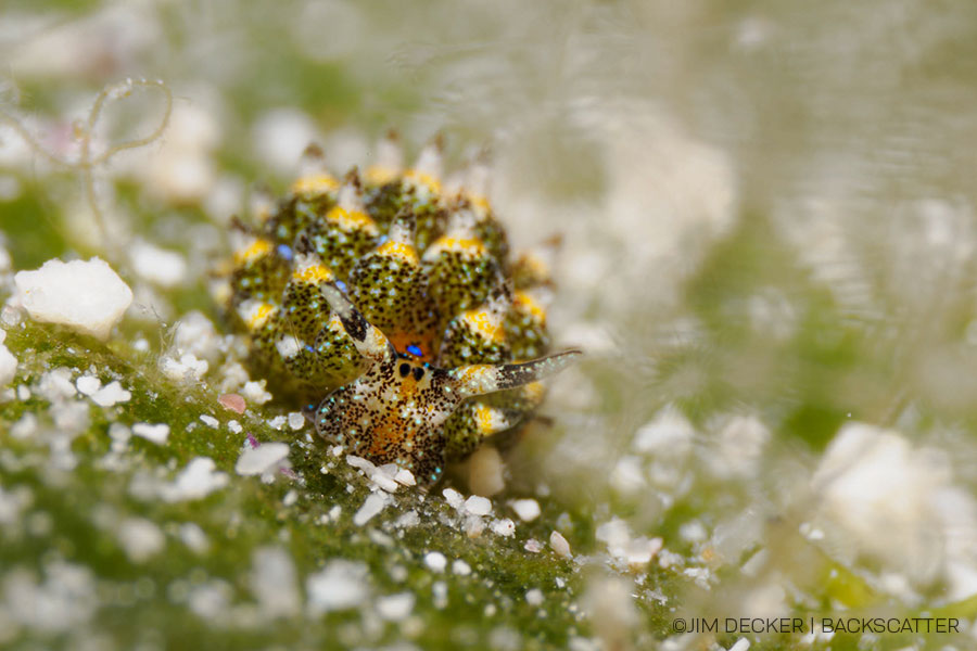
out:
M819 509L803 529L836 558L871 558L903 599L934 580L947 599L977 593L977 503L954 485L943 450L915 447L900 432L847 423L811 482ZM901 575L901 580L900 580Z

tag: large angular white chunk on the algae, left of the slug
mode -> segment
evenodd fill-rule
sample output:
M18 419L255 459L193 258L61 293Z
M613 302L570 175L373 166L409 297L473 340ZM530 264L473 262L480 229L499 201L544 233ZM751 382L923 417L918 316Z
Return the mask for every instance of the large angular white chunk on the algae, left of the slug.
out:
M129 286L97 257L48 260L36 271L20 271L14 283L35 321L61 323L103 341L132 303Z

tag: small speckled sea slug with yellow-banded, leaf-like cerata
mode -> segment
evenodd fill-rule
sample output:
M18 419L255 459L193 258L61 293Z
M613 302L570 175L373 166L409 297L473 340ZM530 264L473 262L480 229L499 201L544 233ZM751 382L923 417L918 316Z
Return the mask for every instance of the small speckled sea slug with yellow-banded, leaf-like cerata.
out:
M229 312L274 391L320 400L320 436L432 484L580 355L547 355L554 243L510 259L484 165L445 190L436 143L403 169L388 139L342 180L312 153L276 209L237 222Z

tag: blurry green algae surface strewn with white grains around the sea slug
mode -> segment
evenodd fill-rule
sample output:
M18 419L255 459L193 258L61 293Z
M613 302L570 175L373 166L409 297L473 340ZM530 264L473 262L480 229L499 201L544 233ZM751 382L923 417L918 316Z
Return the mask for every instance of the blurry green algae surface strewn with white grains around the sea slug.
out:
M977 4L7 0L0 62L0 648L977 643ZM359 476L208 290L309 142L390 128L562 237L587 356L500 490ZM92 256L107 342L18 307ZM959 633L723 629L782 616Z

